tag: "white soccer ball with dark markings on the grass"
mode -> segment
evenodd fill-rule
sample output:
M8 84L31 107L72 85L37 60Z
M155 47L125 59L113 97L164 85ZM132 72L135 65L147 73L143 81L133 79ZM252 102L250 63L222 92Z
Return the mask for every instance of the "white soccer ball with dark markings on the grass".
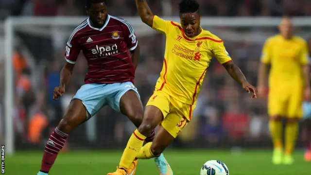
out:
M229 175L229 170L220 160L208 160L202 166L200 175Z

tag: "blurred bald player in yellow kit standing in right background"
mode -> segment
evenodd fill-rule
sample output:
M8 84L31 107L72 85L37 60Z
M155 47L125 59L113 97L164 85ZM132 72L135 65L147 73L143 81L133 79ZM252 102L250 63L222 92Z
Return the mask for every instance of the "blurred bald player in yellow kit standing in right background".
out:
M263 46L258 90L259 95L264 95L267 65L270 64L268 114L274 143L272 161L275 164L292 164L298 122L302 117L302 102L304 97L310 98L309 54L306 41L292 35L290 18L282 18L279 31L279 35L268 38ZM287 119L284 154L282 118Z

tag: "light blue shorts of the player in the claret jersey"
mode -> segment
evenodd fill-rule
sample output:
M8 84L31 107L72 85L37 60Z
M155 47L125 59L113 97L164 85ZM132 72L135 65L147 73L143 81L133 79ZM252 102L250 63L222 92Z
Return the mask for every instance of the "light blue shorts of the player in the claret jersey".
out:
M114 84L86 84L81 86L72 99L79 99L85 105L88 117L94 116L103 106L109 105L120 112L121 97L129 90L138 90L132 82Z

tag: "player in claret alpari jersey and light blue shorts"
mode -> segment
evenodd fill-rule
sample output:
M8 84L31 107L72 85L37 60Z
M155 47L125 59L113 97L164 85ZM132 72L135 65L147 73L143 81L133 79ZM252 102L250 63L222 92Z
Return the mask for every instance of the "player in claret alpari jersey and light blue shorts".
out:
M106 0L87 0L89 15L69 36L65 66L61 70L60 85L54 89L53 99L65 93L80 51L87 60L85 84L77 91L63 119L47 141L41 169L37 175L48 175L59 151L71 131L94 116L104 105L126 115L137 127L143 118L143 106L134 86L139 47L132 25L124 19L107 14ZM154 139L154 130L146 142ZM160 174L169 165L164 156L155 158ZM137 161L126 174L134 175ZM170 168L169 168L170 169Z

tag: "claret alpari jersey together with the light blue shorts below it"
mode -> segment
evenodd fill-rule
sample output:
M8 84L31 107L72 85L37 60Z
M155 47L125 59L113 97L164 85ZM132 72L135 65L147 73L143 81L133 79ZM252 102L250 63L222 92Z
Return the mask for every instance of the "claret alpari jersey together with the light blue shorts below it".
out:
M132 25L124 19L108 15L102 28L94 28L90 19L83 21L69 36L65 59L75 64L80 51L84 54L88 72L83 85L73 99L79 99L89 117L104 105L120 111L120 100L134 86L135 66L130 51L138 41Z

